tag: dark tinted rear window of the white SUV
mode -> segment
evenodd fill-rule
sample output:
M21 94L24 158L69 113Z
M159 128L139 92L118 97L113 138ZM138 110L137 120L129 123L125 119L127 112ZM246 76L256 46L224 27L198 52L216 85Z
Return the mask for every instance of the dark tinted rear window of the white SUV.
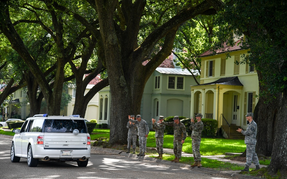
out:
M73 132L87 133L84 120L76 119L46 119L44 132Z

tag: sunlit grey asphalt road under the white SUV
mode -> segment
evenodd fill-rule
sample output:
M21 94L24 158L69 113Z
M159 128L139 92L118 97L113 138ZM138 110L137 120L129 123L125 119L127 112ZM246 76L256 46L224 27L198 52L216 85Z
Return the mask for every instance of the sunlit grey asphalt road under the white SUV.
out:
M231 179L255 178L216 170L188 167L170 161L158 161L150 157L135 157L126 153L117 155L92 154L87 167L76 162L39 162L28 167L27 159L19 163L10 161L11 138L0 136L0 178L8 179ZM94 152L95 153L95 152ZM99 152L101 153L101 152Z

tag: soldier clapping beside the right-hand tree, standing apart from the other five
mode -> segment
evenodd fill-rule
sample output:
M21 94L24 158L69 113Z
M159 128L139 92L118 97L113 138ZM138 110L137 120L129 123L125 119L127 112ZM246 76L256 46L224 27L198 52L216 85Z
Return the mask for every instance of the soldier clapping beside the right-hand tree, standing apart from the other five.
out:
M257 124L253 121L253 113L247 113L246 120L249 121L249 125L247 130L244 131L242 129L236 130L237 132L245 135L244 143L246 144L246 167L241 170L243 172L249 172L249 166L251 162L256 165L256 169L260 169L259 160L257 154L255 153L255 145L256 145L256 134L257 134Z

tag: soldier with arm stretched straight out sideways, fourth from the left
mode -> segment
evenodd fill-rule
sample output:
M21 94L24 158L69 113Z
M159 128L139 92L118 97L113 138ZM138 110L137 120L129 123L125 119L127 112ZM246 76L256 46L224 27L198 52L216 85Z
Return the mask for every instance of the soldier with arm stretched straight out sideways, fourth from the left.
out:
M158 121L158 123L162 123L164 125L169 125L173 127L173 153L175 155L175 158L171 160L172 162L179 162L179 159L181 158L181 150L182 150L182 144L184 143L184 140L186 138L186 129L183 123L179 122L179 116L174 116L173 118L174 122L161 122Z

